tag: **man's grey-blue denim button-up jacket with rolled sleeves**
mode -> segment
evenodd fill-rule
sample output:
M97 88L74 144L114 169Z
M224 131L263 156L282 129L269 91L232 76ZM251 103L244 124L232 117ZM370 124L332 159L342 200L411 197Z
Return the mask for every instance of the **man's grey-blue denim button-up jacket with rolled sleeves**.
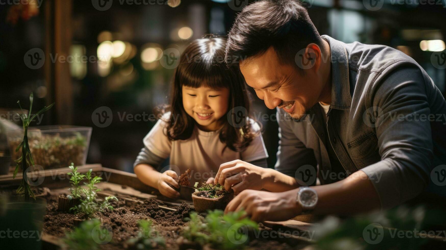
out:
M299 123L277 109L276 169L302 185L315 183L316 175L321 184L338 178L328 174L328 136L347 175L368 175L381 208L423 192L446 196L446 101L432 79L399 50L322 38L332 60L327 124L319 104Z

